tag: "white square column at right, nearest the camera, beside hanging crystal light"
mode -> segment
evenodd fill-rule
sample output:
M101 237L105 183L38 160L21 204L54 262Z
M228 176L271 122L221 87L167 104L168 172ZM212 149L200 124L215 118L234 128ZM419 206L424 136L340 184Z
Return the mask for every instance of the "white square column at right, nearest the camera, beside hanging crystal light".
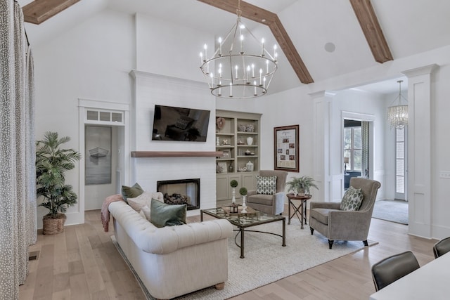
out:
M437 65L402 72L408 77L409 233L431 237L431 76Z

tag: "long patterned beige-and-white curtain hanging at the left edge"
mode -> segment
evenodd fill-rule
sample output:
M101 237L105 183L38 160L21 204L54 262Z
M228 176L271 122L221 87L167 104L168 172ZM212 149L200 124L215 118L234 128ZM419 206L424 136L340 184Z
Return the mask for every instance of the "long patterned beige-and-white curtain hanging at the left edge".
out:
M18 299L37 239L33 60L20 6L0 14L0 299Z

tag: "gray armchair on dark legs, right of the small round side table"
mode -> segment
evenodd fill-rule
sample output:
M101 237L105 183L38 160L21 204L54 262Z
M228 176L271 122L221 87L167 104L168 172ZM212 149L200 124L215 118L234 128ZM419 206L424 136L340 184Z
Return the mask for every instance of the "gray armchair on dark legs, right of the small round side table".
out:
M311 202L309 205L309 229L328 238L331 249L335 240L361 240L367 246L368 229L371 225L373 204L380 183L367 178L352 178L350 186L362 189L364 194L357 211L340 209L340 202Z

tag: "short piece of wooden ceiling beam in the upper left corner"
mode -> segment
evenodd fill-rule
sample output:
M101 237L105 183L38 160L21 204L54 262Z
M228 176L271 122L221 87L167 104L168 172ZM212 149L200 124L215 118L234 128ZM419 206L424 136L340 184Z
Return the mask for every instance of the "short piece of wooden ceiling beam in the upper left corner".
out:
M25 22L41 24L79 0L34 0L22 8Z

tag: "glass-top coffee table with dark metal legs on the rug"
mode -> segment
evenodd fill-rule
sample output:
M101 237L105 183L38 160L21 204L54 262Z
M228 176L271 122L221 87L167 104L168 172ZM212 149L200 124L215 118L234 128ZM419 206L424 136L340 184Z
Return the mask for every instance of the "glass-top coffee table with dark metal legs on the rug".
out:
M217 207L214 209L200 209L200 221L203 221L203 214L207 214L209 216L213 216L217 219L226 219L232 225L238 228L238 233L234 237L234 242L236 246L240 247L240 258L244 258L244 232L253 232L253 233L268 233L271 235L277 235L278 237L283 238L283 247L286 245L286 221L284 216L275 216L272 214L266 214L262 211L257 211L256 209L252 209L251 207L247 207L246 213L242 212L242 206L238 207L237 213L232 213L230 207ZM258 226L265 223L271 223L276 221L283 222L283 235L278 235L277 233L269 233L266 231L258 231L258 230L246 230L245 228L249 228L252 226ZM240 233L240 244L236 242L236 239Z

